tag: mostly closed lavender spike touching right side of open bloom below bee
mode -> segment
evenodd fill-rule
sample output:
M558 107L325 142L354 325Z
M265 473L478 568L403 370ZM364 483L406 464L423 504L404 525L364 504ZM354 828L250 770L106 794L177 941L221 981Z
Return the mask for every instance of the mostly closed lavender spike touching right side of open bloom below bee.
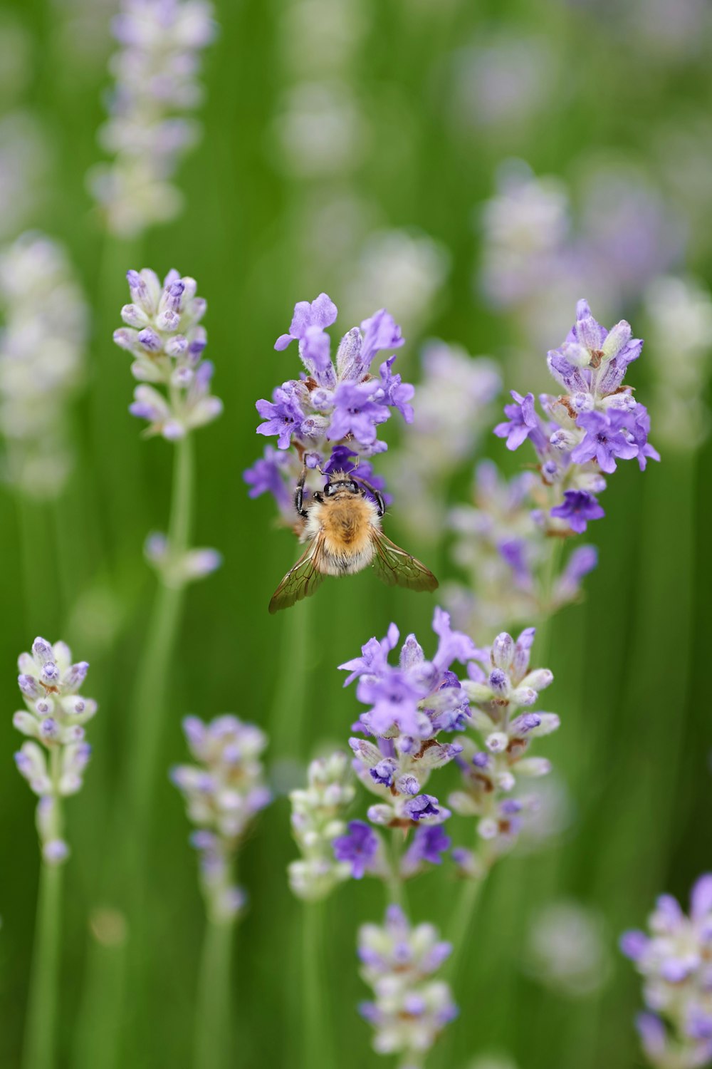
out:
M462 688L470 701L474 738L468 733L456 761L462 789L450 794L449 805L463 817L477 819L479 857L464 856L464 869L479 876L517 841L522 820L535 800L516 793L519 780L545 776L550 762L526 757L533 739L555 731L555 713L534 712L539 693L553 676L548 668L529 670L535 629L527 628L515 641L506 632L491 648L478 650L468 665ZM466 874L466 873L465 873Z

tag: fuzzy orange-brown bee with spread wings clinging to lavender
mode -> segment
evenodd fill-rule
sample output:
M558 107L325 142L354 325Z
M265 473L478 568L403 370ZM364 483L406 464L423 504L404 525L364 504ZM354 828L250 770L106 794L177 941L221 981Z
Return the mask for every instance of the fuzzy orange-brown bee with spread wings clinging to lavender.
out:
M438 587L432 572L381 530L385 506L374 486L353 472L334 471L327 476L323 490L315 493L305 508L305 477L304 471L297 484L295 508L303 521L302 541L308 544L274 591L270 613L308 598L327 575L354 575L369 564L390 587L397 585L409 590Z

